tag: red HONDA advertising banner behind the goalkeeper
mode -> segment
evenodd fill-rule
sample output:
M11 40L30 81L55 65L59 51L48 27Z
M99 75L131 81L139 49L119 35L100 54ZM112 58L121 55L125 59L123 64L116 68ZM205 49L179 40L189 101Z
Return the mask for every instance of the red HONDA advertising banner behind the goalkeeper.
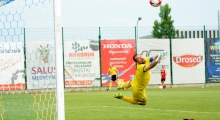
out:
M117 68L118 80L123 82L132 80L136 69L134 54L134 39L101 40L102 86L108 86L111 80L108 74L109 64Z

